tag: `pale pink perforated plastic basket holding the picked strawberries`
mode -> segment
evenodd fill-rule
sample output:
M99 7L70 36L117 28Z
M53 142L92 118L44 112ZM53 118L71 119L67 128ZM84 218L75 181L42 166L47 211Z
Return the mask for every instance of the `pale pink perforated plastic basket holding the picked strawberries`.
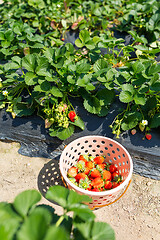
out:
M68 179L67 171L76 164L81 154L106 156L106 162L117 167L122 176L122 183L114 189L102 192L92 192L74 185ZM127 190L133 173L133 162L128 151L120 143L103 136L85 136L72 141L63 150L59 167L62 179L69 189L74 189L79 194L85 194L92 198L92 203L87 203L91 209L103 207L117 201Z

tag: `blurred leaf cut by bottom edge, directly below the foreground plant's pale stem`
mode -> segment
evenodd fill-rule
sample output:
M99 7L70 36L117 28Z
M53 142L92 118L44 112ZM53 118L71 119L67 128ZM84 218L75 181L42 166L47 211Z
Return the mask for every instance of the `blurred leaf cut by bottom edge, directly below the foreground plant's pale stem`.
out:
M48 229L47 234L46 234L44 240L53 240L53 239L57 239L57 240L70 240L70 237L69 237L68 232L66 232L64 228L51 226Z

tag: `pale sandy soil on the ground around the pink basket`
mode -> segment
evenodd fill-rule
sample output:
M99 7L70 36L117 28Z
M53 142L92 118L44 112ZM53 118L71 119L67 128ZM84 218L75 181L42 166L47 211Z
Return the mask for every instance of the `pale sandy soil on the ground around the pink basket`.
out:
M22 156L19 148L19 143L0 141L0 201L12 202L24 190L38 190L39 172L51 160ZM51 205L57 214L62 212L60 206L44 197L40 203ZM94 213L97 221L113 227L116 240L159 240L160 181L133 174L123 197Z

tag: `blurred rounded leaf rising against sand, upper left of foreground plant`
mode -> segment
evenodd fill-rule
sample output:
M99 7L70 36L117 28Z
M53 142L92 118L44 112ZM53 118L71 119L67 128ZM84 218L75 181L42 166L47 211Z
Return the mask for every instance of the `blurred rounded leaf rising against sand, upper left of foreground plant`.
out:
M15 198L13 206L22 217L25 217L29 210L40 200L41 195L38 191L26 190Z

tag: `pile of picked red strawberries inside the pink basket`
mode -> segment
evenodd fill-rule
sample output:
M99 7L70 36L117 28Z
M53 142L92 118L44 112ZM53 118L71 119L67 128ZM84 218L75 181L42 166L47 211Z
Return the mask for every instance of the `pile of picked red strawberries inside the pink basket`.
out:
M70 167L67 177L76 186L89 191L101 192L120 185L122 177L114 164L105 162L105 157L80 155Z

